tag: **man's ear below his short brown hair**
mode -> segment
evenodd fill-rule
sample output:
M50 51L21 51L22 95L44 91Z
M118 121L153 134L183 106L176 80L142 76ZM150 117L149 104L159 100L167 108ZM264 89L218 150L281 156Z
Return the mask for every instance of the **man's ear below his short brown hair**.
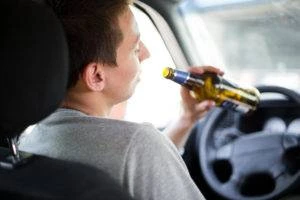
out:
M93 91L102 91L105 86L105 73L100 63L89 63L82 72L86 86Z

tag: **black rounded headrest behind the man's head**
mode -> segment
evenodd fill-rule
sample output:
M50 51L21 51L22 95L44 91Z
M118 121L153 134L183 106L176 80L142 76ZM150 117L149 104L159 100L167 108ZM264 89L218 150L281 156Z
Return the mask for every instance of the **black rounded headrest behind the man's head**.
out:
M68 48L60 21L44 3L1 0L0 13L0 137L12 137L59 106Z

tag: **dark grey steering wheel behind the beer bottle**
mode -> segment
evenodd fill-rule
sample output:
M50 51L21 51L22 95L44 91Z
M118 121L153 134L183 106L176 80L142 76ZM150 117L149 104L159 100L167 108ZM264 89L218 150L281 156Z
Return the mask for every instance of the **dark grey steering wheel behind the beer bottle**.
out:
M279 93L289 105L300 105L300 95L292 90L277 86L258 89L262 96ZM261 101L256 115L252 113L255 120L262 120L262 105L268 104L272 105L272 101ZM296 166L299 160L294 158L300 157L300 136L283 131L270 134L251 128L248 132L241 130L241 123L247 124L247 117L221 108L215 108L207 116L196 137L204 180L225 199L278 198L299 180L300 167Z

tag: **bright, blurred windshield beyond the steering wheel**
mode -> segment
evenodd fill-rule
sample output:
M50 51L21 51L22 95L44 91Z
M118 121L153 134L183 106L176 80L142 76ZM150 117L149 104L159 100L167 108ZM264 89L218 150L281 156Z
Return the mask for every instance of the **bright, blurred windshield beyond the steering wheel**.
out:
M300 91L299 0L187 0L181 12L200 64L238 83Z

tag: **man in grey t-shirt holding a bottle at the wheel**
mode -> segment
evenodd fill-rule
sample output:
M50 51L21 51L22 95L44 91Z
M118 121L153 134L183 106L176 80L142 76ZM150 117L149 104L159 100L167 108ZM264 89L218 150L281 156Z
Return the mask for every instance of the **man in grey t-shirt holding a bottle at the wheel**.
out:
M52 3L70 47L69 89L62 108L36 125L20 149L79 161L108 172L135 199L202 199L174 144L151 124L109 119L127 100L149 52L140 41L129 0ZM222 73L212 67L192 68ZM213 103L182 90L184 114L168 129L175 144Z

